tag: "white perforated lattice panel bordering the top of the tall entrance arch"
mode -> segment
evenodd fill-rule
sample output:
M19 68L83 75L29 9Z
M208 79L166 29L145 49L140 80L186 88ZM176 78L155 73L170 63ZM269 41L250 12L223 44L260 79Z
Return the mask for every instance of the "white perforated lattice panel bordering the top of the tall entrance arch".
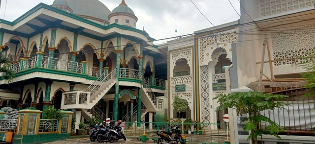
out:
M237 37L236 37L236 31L231 31L231 32L226 32L219 35L215 36L208 36L208 37L203 37L199 39L199 47L200 47L200 62L202 63L204 60L205 56L209 56L210 54L204 55L204 52L209 46L217 44L218 47L226 46L227 43L234 43L237 42ZM220 42L222 44L220 44ZM222 46L221 46L222 45ZM211 49L215 50L216 48L210 47Z

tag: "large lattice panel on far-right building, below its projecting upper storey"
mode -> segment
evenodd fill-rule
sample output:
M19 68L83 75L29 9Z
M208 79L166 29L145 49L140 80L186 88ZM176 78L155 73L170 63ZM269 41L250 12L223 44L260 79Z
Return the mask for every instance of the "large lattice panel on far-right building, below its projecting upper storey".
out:
M307 56L308 51L315 50L315 25L291 30L283 30L272 34L273 57L275 66L292 65L306 62L307 59L292 59Z

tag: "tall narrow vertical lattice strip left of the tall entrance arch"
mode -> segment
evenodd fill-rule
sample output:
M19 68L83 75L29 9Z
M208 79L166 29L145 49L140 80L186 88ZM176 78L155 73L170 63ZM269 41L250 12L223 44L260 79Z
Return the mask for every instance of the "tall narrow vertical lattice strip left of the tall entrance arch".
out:
M200 67L201 121L210 123L209 69Z

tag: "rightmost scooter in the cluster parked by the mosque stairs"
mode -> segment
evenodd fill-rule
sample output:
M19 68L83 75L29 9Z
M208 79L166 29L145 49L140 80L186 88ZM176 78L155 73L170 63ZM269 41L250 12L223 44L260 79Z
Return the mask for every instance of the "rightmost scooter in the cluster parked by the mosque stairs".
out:
M115 126L115 128L109 130L107 139L110 143L114 143L120 139L123 139L126 141L126 137L124 135L123 128L121 127L122 122L123 122L123 120L118 120L117 121L118 124Z

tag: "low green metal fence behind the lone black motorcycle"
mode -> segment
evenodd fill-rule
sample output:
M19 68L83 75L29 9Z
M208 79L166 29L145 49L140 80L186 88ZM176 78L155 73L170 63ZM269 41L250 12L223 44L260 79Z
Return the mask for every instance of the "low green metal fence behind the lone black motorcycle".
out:
M136 122L125 122L125 124L125 136L139 141L142 134L146 134L148 141L156 141L157 131L168 131L177 124L180 125L180 130L189 144L224 144L227 138L225 123L142 122L141 127L136 127ZM182 129L183 126L184 129Z

